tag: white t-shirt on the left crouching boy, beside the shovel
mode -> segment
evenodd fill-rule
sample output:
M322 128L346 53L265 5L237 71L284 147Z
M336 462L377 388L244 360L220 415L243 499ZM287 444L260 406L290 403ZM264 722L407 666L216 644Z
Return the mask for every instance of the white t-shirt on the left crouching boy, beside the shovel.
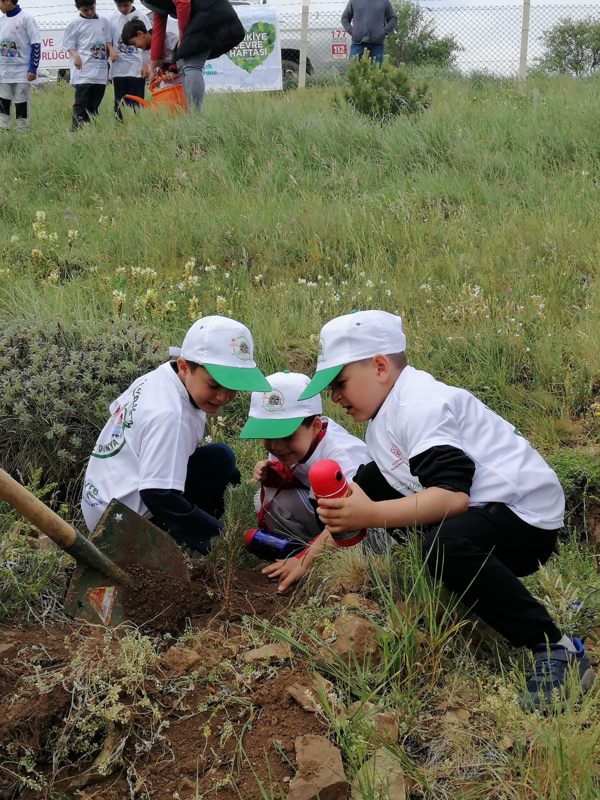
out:
M170 362L134 381L111 403L110 414L83 483L82 511L90 530L113 498L149 517L142 489L183 491L187 462L206 422Z

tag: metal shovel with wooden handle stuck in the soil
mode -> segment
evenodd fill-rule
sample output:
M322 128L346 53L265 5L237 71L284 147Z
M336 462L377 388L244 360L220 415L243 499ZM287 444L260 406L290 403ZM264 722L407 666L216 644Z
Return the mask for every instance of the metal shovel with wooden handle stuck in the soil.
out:
M124 571L131 566L168 572L190 584L186 559L174 539L118 500L110 502L86 538L2 468L0 499L77 562L65 600L70 617L111 627L127 622L122 595L125 587L135 588Z

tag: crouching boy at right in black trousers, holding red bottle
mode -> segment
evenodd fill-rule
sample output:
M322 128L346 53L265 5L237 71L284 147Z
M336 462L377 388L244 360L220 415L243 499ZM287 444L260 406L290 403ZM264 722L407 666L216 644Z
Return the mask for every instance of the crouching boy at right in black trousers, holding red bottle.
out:
M420 528L430 573L515 646L534 650L522 706L551 702L570 670L589 689L594 670L581 642L563 636L518 580L554 550L565 509L556 474L473 394L408 366L405 348L401 319L386 311L346 314L321 330L317 372L300 397L330 386L346 414L369 421L372 458L349 498L320 501L322 522L332 534Z

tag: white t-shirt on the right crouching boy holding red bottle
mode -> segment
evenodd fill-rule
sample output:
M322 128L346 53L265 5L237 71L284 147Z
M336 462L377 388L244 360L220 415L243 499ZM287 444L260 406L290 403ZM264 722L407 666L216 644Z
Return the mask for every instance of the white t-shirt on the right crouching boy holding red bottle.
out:
M402 370L366 428L366 444L386 481L401 494L422 490L410 472L410 458L449 445L474 461L470 506L502 502L530 525L562 526L562 486L537 450L473 394L427 372L412 366Z

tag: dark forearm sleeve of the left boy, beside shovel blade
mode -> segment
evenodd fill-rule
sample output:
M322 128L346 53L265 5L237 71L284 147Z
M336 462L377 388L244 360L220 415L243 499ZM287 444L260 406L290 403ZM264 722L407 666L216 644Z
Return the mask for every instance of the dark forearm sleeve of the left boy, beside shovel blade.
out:
M202 552L222 529L222 522L194 506L177 489L142 489L139 494L154 524L195 550Z

